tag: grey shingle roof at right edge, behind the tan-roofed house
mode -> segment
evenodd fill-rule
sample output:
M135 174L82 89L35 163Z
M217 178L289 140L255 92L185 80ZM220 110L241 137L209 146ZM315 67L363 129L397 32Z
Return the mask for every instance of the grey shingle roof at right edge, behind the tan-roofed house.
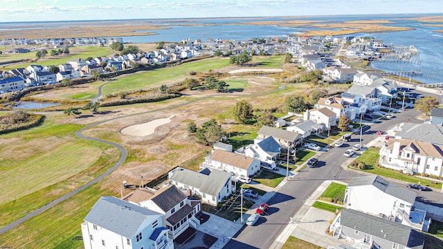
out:
M395 136L443 145L443 127L435 124L405 122L401 131L397 131Z

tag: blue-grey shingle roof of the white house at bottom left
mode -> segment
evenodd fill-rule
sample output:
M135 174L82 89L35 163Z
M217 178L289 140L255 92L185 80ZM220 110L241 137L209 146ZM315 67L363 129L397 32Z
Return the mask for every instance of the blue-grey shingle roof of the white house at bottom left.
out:
M84 217L84 221L132 238L148 216L159 219L161 214L113 196L102 196Z

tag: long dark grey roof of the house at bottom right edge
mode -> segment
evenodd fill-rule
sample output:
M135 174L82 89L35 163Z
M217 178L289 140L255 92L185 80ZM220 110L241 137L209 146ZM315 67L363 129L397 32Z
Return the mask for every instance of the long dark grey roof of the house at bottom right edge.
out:
M408 248L423 248L425 234L413 228L356 210L341 210L340 224Z

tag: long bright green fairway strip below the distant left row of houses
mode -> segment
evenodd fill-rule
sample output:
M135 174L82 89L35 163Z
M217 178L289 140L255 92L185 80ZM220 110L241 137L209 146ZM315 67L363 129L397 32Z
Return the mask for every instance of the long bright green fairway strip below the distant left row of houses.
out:
M114 82L103 86L102 94L118 93L120 91L132 91L145 89L149 86L165 84L174 80L185 79L186 73L190 71L200 72L208 71L215 68L223 68L229 66L228 59L210 58L200 59L194 62L186 62L179 66L171 66L166 68L157 68L152 71L141 71L118 77Z

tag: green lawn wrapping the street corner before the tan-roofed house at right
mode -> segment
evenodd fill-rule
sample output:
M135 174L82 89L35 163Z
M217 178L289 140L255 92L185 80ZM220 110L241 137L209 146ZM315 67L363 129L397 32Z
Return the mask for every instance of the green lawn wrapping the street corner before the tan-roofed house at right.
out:
M399 173L395 170L392 170L392 169L386 169L386 168L374 166L378 160L379 160L379 152L377 151L377 149L375 149L373 147L370 147L367 151L365 151L363 154L361 154L361 156L356 158L356 161L363 162L366 165L368 165L368 169L364 170L365 172L377 174L379 176L386 176L386 177L401 180L401 181L406 181L408 183L419 183L420 182L420 184L422 184L422 185L426 185L429 187L435 187L439 190L442 189L442 183L440 183L440 182L431 183L431 181L433 181L431 179L418 178L415 176L406 176L405 174L401 174L401 173Z

